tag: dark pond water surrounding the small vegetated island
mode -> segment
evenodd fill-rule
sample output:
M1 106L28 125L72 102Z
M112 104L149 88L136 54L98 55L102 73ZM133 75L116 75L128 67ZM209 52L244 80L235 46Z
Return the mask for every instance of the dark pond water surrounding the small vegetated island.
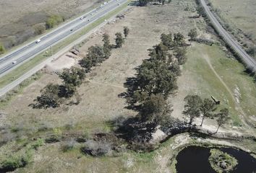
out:
M221 148L231 156L234 156L238 165L232 173L253 173L256 172L256 159L247 152L236 150L234 148ZM208 162L210 148L200 146L189 146L179 152L176 157L177 173L216 173Z

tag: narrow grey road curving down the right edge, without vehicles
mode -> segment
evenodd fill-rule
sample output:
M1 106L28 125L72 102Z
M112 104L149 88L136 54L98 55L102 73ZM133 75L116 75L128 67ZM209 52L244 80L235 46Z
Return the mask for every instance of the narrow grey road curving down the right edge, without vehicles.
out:
M247 65L247 68L252 69L252 71L256 71L256 61L251 56L249 56L244 49L239 45L239 43L236 42L236 40L231 37L229 32L227 32L221 24L218 22L218 19L213 15L212 12L210 12L209 7L205 3L205 0L200 0L202 6L205 8L205 12L208 15L210 21L212 22L213 26L218 30L218 33L223 37L223 39L226 41L227 44L233 48L236 53L239 54L240 58L242 58L242 61Z

